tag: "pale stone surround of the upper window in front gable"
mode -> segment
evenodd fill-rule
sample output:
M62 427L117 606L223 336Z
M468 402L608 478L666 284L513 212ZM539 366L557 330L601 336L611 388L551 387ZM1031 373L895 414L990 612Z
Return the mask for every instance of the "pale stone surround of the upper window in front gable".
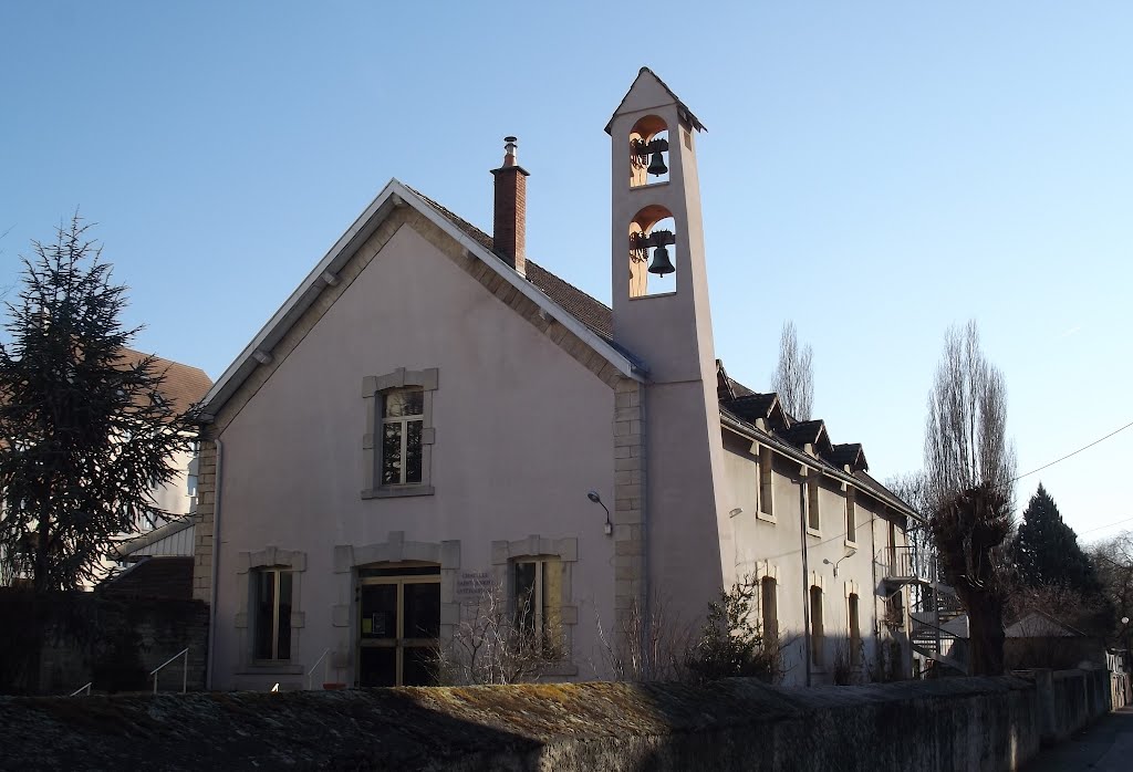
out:
M424 420L421 426L421 481L406 486L383 486L378 472L381 463L382 406L378 395L392 388L419 386L424 395ZM433 427L433 393L437 388L437 368L407 370L399 367L384 376L366 376L361 379L361 396L366 401L366 432L361 439L363 484L361 497L398 498L403 496L432 496L433 445L436 429Z

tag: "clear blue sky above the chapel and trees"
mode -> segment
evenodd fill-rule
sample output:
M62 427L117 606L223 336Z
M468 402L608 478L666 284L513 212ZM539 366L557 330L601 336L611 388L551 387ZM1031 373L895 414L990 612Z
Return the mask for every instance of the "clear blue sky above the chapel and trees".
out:
M486 230L520 137L528 251L610 299L611 112L642 65L708 127L716 352L920 466L945 328L976 318L1029 471L1133 421L1133 3L8 2L0 284L75 207L138 348L218 377L391 177ZM1026 478L1133 527L1133 429ZM1128 521L1114 527L1109 523Z

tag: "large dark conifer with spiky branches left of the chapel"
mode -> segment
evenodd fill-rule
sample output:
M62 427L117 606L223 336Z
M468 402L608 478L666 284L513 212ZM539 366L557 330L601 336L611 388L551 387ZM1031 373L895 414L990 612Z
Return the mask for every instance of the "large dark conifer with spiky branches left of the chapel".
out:
M154 359L123 357L138 331L88 228L33 242L0 343L0 556L37 594L99 578L122 533L165 514L154 490L191 443Z

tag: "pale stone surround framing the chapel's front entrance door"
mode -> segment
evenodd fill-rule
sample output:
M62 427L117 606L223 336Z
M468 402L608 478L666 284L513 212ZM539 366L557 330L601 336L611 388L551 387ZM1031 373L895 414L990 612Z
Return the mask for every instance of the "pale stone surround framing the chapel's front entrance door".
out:
M355 650L359 637L357 619L357 569L360 566L397 563L433 563L441 566L441 631L440 641L451 641L460 623L460 603L457 602L457 578L460 573L460 541L406 541L404 531L390 531L385 541L365 546L335 544L334 574L339 602L331 608L334 627L334 649L331 667L338 670L355 669ZM358 674L353 674L357 680Z

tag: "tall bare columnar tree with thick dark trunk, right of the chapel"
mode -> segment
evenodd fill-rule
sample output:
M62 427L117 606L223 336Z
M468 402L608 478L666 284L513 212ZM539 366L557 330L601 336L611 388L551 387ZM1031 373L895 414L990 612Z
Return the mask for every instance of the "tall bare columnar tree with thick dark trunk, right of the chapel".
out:
M1006 424L1003 375L985 358L976 321L951 327L928 397L925 484L940 568L968 610L972 675L1004 666L1015 477Z

